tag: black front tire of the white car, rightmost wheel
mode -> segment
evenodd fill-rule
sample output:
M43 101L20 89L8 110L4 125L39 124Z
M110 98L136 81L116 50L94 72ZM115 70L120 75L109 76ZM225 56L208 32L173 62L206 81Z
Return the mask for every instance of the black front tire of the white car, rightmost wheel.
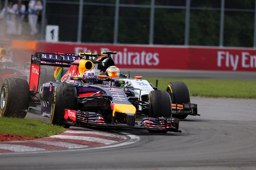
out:
M182 105L190 103L190 92L188 86L184 82L170 82L166 87L166 91L171 96L171 102ZM173 118L185 119L188 115L173 115Z

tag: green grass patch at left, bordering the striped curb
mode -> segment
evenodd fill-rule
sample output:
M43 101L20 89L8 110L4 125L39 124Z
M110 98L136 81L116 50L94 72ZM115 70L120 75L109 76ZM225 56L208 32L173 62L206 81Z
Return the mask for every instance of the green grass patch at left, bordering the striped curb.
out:
M0 133L32 136L35 138L65 132L64 127L54 126L39 120L0 117Z

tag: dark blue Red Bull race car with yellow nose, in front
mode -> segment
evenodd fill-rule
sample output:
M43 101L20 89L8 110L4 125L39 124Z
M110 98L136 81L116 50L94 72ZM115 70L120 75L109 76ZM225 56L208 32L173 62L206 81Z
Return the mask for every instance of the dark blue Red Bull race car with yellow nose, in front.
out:
M146 129L153 133L181 132L178 130L179 119L171 117L168 92L151 91L147 95L148 102L142 104L145 116L138 119L141 115L138 116L133 103L141 101L129 89L123 90L111 84L83 83L83 72L93 69L90 60L93 57L98 55L35 52L31 59L29 84L18 78L7 78L3 82L0 93L2 116L24 118L28 110L41 106L41 113L49 114L52 124L66 128L74 125ZM38 92L41 65L69 69L60 81L46 82ZM100 61L98 66L106 65ZM118 81L115 83L118 84Z

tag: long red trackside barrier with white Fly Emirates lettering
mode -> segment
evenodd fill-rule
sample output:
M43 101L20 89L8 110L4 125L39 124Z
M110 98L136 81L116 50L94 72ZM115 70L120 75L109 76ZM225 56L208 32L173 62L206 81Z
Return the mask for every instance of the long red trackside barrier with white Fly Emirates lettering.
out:
M17 43L25 44L25 47L17 46ZM79 52L100 54L101 51L116 51L117 54L113 55L113 60L119 68L256 71L256 50L252 48L47 43L42 41L22 43L22 41L15 40L12 44L15 47L13 57L17 60L30 61L31 54L35 51L75 54ZM20 55L24 53L28 54Z

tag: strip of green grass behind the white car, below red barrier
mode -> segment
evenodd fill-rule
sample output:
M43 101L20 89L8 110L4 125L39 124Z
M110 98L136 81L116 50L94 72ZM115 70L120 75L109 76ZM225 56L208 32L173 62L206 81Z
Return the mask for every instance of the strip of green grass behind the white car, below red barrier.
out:
M185 82L190 90L190 96L254 98L256 99L256 80L213 80L186 78L144 78L155 86L158 79L158 89L166 90L169 82Z

